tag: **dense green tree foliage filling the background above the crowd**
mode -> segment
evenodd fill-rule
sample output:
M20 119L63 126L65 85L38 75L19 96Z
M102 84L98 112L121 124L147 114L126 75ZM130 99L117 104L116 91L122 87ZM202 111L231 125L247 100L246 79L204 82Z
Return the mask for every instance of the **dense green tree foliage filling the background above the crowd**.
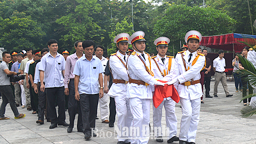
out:
M202 35L252 33L246 1L205 1L204 9L203 0L0 0L0 47L38 49L54 38L60 49L74 51L74 42L92 39L110 54L116 49L115 35L132 34L133 27L146 33L147 52L156 53L154 40L167 36L172 54L172 46L178 51L188 30ZM256 2L248 2L254 20Z

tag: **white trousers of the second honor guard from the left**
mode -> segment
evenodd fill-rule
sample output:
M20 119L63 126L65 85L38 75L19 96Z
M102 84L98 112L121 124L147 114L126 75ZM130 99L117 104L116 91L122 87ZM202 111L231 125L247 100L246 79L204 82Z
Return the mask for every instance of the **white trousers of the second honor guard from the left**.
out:
M129 98L130 108L133 116L132 125L132 139L131 143L142 144L148 143L149 140L149 117L150 117L150 99L140 99L140 98ZM148 127L148 129L143 130L142 128ZM135 130L139 128L139 131ZM131 129L130 129L131 131ZM148 135L146 135L148 134Z

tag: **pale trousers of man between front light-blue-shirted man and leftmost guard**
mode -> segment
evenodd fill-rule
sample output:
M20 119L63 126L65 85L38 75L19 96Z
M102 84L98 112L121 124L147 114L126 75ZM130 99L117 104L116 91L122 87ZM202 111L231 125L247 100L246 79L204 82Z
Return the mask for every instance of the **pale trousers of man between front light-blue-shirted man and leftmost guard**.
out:
M104 93L103 97L99 99L101 122L108 119L108 99L109 97L107 93Z

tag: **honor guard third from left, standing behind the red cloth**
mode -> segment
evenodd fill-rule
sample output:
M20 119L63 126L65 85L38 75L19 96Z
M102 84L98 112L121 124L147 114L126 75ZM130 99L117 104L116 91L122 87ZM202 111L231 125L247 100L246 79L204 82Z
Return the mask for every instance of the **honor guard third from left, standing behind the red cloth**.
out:
M167 37L157 38L154 44L156 45L156 50L158 54L155 57L152 57L154 77L156 79L161 79L164 81L172 80L172 73L173 73L173 67L174 67L174 58L172 56L165 55L168 50L169 43L170 43L170 39ZM169 140L167 140L167 142L172 143L173 141L179 141L179 138L176 137L177 117L175 115L175 101L173 101L171 97L164 98L163 102L157 108L155 108L155 106L153 105L154 130L157 129L157 132L155 132L157 134L155 135L157 137L156 141L163 142L162 125L161 125L163 106L165 108L166 125L167 127L169 127L169 130L170 130ZM161 128L161 131L158 130L158 128Z

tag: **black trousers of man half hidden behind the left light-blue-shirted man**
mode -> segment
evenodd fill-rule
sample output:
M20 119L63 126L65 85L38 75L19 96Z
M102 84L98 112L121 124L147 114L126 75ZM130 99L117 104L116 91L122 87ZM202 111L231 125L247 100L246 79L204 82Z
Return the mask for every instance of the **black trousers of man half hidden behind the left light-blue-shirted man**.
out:
M49 112L47 111L48 109L45 107L46 106L46 92L42 92L40 90L41 83L37 84L37 90L38 90L38 120L44 121L44 110L46 111L45 117L46 119L50 119L47 114Z

